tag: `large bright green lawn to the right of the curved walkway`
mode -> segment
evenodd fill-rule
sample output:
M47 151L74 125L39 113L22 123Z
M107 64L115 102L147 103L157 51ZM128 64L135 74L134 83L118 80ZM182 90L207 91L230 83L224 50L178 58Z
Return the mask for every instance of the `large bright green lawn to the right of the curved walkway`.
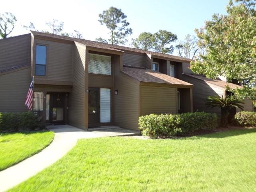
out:
M183 139L79 140L10 191L254 191L256 129Z

